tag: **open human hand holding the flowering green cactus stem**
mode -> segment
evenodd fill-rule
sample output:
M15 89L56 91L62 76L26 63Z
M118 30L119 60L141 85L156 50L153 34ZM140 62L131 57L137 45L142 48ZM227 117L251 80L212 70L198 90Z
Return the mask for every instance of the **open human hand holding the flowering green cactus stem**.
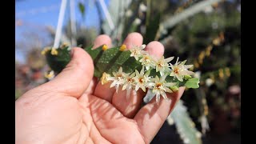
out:
M123 42L129 49L142 45L142 36L129 34ZM100 35L94 48L111 40ZM160 58L164 48L150 42L146 51ZM94 75L90 55L74 48L72 59L50 82L23 94L15 102L15 141L26 143L150 143L162 127L170 111L181 98L184 87L167 94L169 101L153 98L141 108L145 93L126 91L102 85Z

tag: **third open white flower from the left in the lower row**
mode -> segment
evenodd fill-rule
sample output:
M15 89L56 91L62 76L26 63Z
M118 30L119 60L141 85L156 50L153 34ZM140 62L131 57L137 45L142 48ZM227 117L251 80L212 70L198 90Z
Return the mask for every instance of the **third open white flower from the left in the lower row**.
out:
M138 73L138 70L135 70L135 90L137 91L139 88L141 88L144 92L146 92L146 86L150 82L149 73L144 74L144 66L142 67L142 70L140 73Z

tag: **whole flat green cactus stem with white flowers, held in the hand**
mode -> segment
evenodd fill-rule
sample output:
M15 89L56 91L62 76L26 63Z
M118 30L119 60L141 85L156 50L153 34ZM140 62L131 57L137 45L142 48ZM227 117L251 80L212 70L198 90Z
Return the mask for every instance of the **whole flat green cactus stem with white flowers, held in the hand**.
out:
M154 58L144 50L146 45L133 46L130 50L126 50L126 45L92 47L84 50L94 61L94 76L101 78L102 85L110 82L110 87L115 87L117 93L119 88L126 90L126 98L132 90L142 89L156 95L158 103L161 96L167 100L166 93L173 93L180 86L199 87L199 79L193 78L194 72L189 70L193 65L185 65L186 60L179 62L179 58L172 64L174 57ZM69 46L46 48L42 54L46 55L50 68L57 74L70 62ZM52 71L46 74L48 78L53 76Z

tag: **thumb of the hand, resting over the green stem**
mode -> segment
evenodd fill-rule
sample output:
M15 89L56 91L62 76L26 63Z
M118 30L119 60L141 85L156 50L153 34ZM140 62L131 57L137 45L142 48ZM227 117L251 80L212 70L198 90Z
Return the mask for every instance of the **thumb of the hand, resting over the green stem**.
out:
M94 63L82 48L73 48L71 57L66 68L45 86L50 91L55 90L78 98L87 89L94 76Z

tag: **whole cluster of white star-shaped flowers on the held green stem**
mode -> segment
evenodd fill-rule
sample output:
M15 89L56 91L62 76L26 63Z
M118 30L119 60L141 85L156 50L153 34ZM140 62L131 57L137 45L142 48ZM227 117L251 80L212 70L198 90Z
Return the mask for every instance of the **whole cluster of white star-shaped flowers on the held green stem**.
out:
M131 90L137 91L138 89L142 89L146 92L146 89L150 89L156 95L156 102L159 103L161 95L163 98L168 99L166 93L172 93L178 90L177 83L166 82L166 77L173 77L174 80L177 78L178 81L182 82L184 77L191 78L190 75L194 74L194 72L188 70L193 65L185 65L186 60L178 62L178 58L177 62L172 65L169 62L174 57L165 59L162 56L162 58L156 59L143 50L145 47L146 45L134 46L130 50L130 57L134 57L142 64L142 70L140 72L135 70L133 73L127 74L120 67L118 72L113 72L112 76L104 73L102 75L102 84L112 82L110 87L115 87L116 92L122 86L122 90L126 90L126 98L129 98ZM150 71L154 69L160 74L160 78L158 75L150 76Z

